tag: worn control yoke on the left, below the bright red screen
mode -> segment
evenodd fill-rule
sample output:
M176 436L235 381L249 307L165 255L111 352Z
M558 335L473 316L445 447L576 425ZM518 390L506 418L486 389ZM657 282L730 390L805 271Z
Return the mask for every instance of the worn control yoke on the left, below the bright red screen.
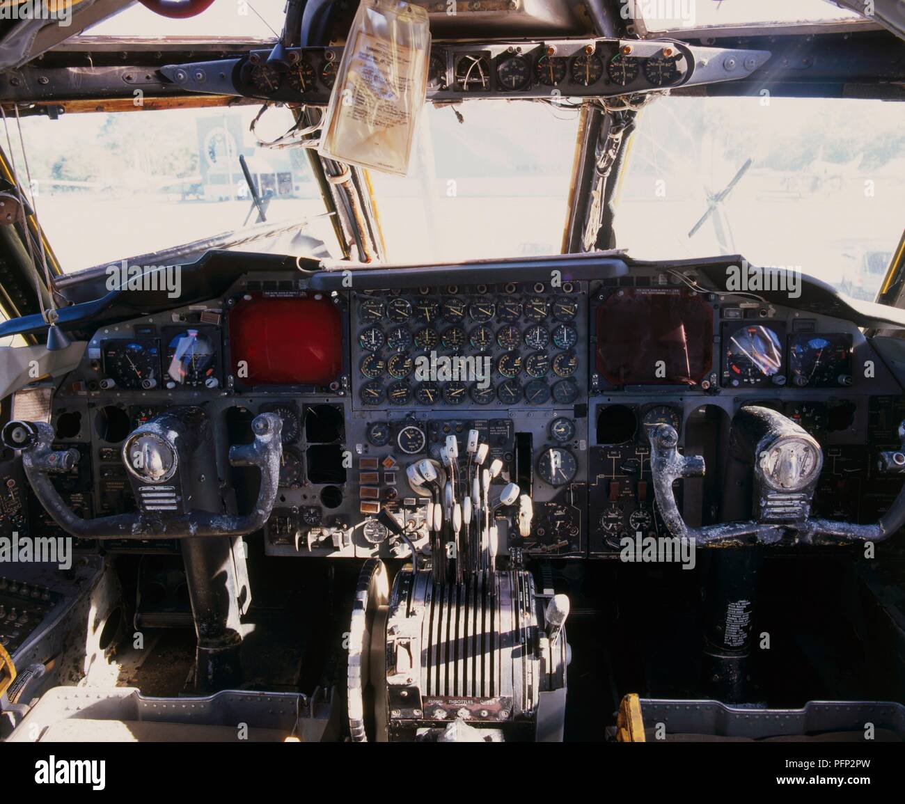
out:
M44 422L12 421L3 428L0 438L7 447L22 450L25 476L35 496L53 521L73 536L83 539L182 539L243 536L260 530L271 515L280 483L280 416L273 413L256 416L252 421L252 442L229 448L230 464L257 467L261 472L261 488L252 512L242 516L185 507L192 495L180 485L183 473L179 467L192 465L193 455L185 446L189 438L187 429L180 429L177 419L165 417L136 428L126 440L123 459L129 460L129 445L141 442L141 450L137 449L135 455L137 460L145 456L143 479L133 481L139 510L91 520L77 516L52 483L52 474L71 472L80 458L76 449L52 449L52 426ZM134 467L127 465L127 468L138 478ZM186 471L185 474L189 473ZM158 482L169 485L156 485ZM149 500L157 504L148 504Z

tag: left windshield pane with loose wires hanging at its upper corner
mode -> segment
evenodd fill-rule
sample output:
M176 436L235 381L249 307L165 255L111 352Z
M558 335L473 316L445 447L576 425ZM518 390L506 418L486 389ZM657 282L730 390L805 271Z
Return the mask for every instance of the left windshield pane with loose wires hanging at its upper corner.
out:
M338 246L310 165L300 148L259 148L249 126L259 107L67 114L27 118L22 131L38 218L63 272L162 251L258 221L239 156L269 201L268 224L300 222L303 234ZM291 113L271 109L259 134L289 129ZM9 124L15 135L15 121ZM25 180L14 137L15 165ZM286 240L280 240L288 251ZM255 251L272 251L255 240ZM290 253L296 253L291 251ZM304 253L300 251L299 253Z

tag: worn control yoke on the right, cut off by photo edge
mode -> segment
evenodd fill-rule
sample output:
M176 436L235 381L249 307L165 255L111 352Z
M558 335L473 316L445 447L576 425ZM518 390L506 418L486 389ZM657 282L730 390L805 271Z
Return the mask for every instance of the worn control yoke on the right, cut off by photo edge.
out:
M743 416L744 415L744 416ZM651 474L662 521L673 537L698 546L775 544L791 535L800 544L838 544L844 541L884 541L905 524L905 486L879 522L870 525L835 522L810 516L811 499L823 465L820 445L805 430L776 411L745 407L747 445L754 470L754 512L744 522L725 522L700 528L682 519L672 483L686 477L702 477L704 459L681 455L679 436L670 425L651 428ZM738 418L737 416L737 418ZM735 422L733 422L735 427ZM881 474L905 474L905 422L899 427L899 450L881 452ZM732 447L730 446L730 449Z

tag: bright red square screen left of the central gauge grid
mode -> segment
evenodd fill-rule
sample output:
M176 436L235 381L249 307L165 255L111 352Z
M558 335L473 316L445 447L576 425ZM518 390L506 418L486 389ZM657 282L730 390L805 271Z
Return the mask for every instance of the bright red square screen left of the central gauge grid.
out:
M243 299L229 332L242 386L328 386L342 371L342 316L328 298Z

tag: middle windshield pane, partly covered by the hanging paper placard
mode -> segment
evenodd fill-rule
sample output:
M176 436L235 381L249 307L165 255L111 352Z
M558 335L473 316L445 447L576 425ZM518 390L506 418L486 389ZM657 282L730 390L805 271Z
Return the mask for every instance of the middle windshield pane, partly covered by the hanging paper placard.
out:
M387 259L559 254L577 131L537 101L425 106L409 176L370 175Z

